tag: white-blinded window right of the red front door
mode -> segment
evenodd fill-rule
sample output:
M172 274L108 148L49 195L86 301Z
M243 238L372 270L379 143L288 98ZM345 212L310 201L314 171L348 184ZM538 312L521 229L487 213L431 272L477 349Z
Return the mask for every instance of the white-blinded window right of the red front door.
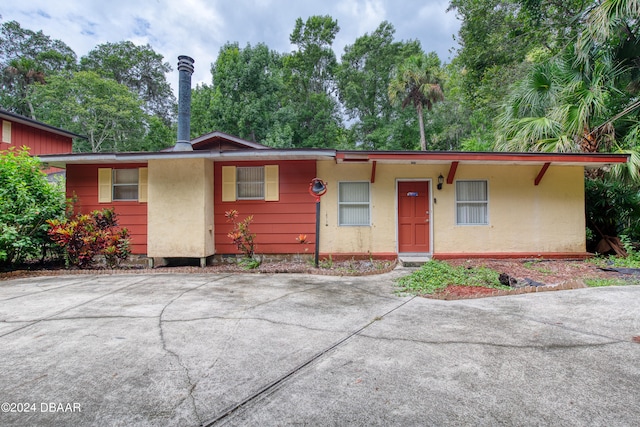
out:
M456 181L456 224L489 224L487 181Z

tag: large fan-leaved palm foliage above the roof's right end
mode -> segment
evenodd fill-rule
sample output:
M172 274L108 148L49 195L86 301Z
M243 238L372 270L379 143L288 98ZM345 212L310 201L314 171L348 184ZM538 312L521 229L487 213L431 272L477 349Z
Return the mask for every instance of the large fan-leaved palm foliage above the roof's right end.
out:
M637 32L633 8L617 9L613 24L602 24L608 0L585 13L589 23L562 55L533 66L505 103L498 120L498 149L516 151L622 151L631 154L626 176L639 180L640 101L633 85L633 61L618 55ZM626 11L626 12L625 12ZM604 15L603 15L604 14ZM606 27L603 36L602 26ZM611 28L617 31L611 31Z

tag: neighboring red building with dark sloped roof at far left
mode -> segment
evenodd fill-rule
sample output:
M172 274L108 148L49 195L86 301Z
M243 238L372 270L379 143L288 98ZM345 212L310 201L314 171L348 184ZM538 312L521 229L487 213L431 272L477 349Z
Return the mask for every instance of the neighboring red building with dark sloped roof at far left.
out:
M73 138L82 138L75 133L3 109L0 109L0 122L0 151L26 146L33 156L67 154L72 152Z

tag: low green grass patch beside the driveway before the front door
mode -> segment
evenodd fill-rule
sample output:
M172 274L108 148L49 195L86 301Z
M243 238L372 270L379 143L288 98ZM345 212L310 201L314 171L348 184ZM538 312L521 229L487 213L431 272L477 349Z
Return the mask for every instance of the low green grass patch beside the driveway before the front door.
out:
M500 284L497 271L487 267L453 267L444 261L431 260L419 270L398 280L398 291L411 295L436 293L449 285L484 286L510 289Z

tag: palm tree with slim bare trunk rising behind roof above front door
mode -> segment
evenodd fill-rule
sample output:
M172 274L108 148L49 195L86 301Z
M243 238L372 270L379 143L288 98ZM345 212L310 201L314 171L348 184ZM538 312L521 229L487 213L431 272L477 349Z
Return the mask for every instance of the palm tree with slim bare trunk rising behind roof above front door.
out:
M413 55L396 70L389 83L389 99L391 102L402 102L402 108L413 105L418 112L420 125L420 148L427 149L424 134L423 110L431 110L433 104L444 100L440 86L440 60L435 52L428 55Z

